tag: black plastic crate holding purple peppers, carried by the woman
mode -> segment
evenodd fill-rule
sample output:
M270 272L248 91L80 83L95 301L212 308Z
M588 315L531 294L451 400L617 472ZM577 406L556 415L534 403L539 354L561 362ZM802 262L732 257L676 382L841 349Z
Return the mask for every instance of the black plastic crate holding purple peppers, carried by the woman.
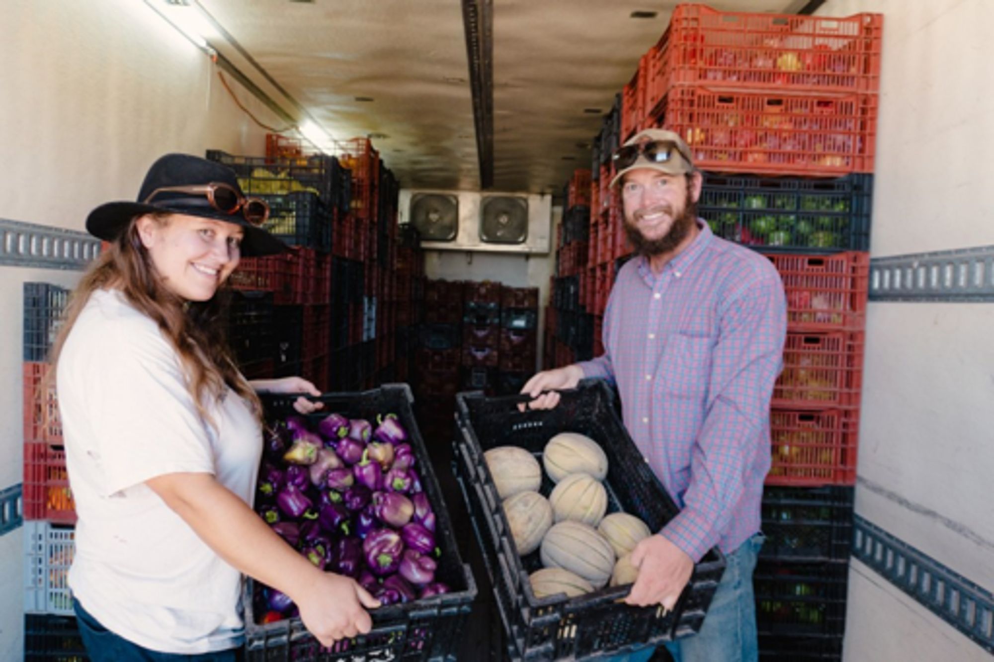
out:
M296 396L262 396L266 417L294 413ZM437 578L452 589L444 595L393 604L371 611L373 630L355 639L339 641L332 648L318 644L300 618L256 624L252 595L255 582L245 588L246 662L294 660L338 662L340 660L444 660L451 658L461 644L460 632L476 596L476 584L469 567L459 558L448 510L441 489L431 471L431 459L424 446L412 405L414 398L406 384L385 385L362 393L322 396L324 409L309 417L318 420L331 413L349 418L374 420L376 414L397 414L408 430L421 485L435 512L435 539L441 550Z

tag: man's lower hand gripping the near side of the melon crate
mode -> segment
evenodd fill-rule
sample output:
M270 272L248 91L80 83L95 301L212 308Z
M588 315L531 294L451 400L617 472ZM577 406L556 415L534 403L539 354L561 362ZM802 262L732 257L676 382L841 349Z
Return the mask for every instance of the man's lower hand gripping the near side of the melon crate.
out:
M638 569L638 578L625 602L635 606L662 604L667 610L676 606L694 572L694 562L687 553L662 535L649 536L636 545L631 565Z

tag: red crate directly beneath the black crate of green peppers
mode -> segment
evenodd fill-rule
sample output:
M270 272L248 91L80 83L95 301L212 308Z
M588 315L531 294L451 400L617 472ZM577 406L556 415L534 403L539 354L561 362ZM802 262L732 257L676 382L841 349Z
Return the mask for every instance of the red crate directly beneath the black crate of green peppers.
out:
M860 330L866 322L870 254L766 254L780 273L791 331Z

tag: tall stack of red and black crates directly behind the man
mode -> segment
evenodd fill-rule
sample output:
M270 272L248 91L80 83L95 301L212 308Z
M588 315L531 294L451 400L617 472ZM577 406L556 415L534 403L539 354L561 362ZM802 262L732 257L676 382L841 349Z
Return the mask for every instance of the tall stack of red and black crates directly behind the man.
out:
M611 155L644 128L683 137L704 171L699 216L766 255L783 280L788 330L762 505L769 541L755 572L762 659L841 657L882 26L878 14L679 5L593 141L593 267L580 303L594 314L630 253L608 188Z

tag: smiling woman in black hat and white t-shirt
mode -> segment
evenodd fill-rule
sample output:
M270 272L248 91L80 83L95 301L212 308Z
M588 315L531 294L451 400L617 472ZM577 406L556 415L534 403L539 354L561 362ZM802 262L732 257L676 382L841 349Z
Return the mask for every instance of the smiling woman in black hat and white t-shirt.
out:
M79 523L70 586L101 660L234 660L242 574L298 605L324 644L368 632L379 602L323 573L251 510L256 392L319 395L300 378L248 383L228 355L219 288L241 255L284 250L227 167L170 154L138 203L101 205L109 243L53 350ZM297 409L313 409L306 400Z

